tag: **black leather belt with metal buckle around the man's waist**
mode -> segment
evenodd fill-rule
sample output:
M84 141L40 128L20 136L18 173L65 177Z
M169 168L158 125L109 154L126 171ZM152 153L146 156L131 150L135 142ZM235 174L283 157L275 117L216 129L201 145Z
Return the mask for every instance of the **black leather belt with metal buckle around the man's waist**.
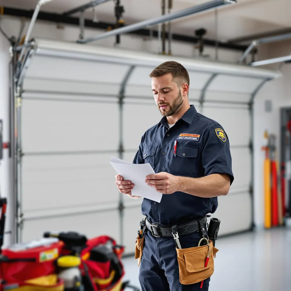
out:
M152 235L154 237L172 237L173 236L173 226L159 226L155 223L150 223L148 221L148 219L145 218L144 220L145 222L145 226L148 230L150 230L150 232L152 233ZM186 235L189 233L195 233L196 231L201 230L200 226L202 224L202 227L206 226L207 223L207 217L202 217L199 220L194 220L194 221L190 221L187 223L183 223L183 224L177 224L175 225L175 232L178 233L178 235ZM204 230L204 228L203 228ZM206 233L206 230L205 230Z

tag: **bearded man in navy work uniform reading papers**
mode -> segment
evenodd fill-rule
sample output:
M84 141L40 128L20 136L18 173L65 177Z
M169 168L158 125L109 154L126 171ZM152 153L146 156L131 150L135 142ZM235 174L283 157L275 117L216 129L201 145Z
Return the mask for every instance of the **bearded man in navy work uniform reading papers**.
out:
M203 221L206 229L206 214L215 212L217 196L228 194L234 179L228 137L221 125L190 106L189 74L180 63L162 63L150 77L163 118L142 136L134 163L151 164L156 174L146 177L145 183L163 197L160 203L143 199L141 210L148 223L139 281L143 291L208 290L210 278L202 289L200 283L180 283L171 227L178 227L182 249L198 245L202 234L197 221ZM139 198L131 194L131 181L116 175L116 184L121 193ZM191 230L187 234L179 228L185 223ZM168 235L162 235L158 226L168 227Z

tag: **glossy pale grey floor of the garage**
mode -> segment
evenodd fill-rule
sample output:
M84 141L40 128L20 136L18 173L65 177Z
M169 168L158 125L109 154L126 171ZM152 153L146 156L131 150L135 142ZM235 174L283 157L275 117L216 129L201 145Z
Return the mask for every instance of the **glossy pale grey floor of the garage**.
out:
M221 237L215 246L209 291L291 290L291 226ZM124 281L140 287L137 260L123 263Z

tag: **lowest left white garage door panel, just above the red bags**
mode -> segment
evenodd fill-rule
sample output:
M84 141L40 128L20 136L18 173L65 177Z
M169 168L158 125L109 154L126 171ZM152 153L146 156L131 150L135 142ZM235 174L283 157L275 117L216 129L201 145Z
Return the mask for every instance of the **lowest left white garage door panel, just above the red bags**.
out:
M119 227L116 227L116 221L118 220L117 210L25 220L22 241L29 242L40 239L46 231L52 233L76 231L86 235L88 239L100 235L109 235L119 242L120 230Z

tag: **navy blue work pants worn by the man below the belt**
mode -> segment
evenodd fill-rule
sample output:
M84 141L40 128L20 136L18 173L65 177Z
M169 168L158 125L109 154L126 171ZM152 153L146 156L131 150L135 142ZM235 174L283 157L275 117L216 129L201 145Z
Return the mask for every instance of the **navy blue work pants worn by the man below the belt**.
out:
M198 246L200 232L181 235L182 249ZM176 245L173 237L154 237L145 232L143 255L140 263L139 282L142 291L208 291L210 278L190 285L180 283Z

